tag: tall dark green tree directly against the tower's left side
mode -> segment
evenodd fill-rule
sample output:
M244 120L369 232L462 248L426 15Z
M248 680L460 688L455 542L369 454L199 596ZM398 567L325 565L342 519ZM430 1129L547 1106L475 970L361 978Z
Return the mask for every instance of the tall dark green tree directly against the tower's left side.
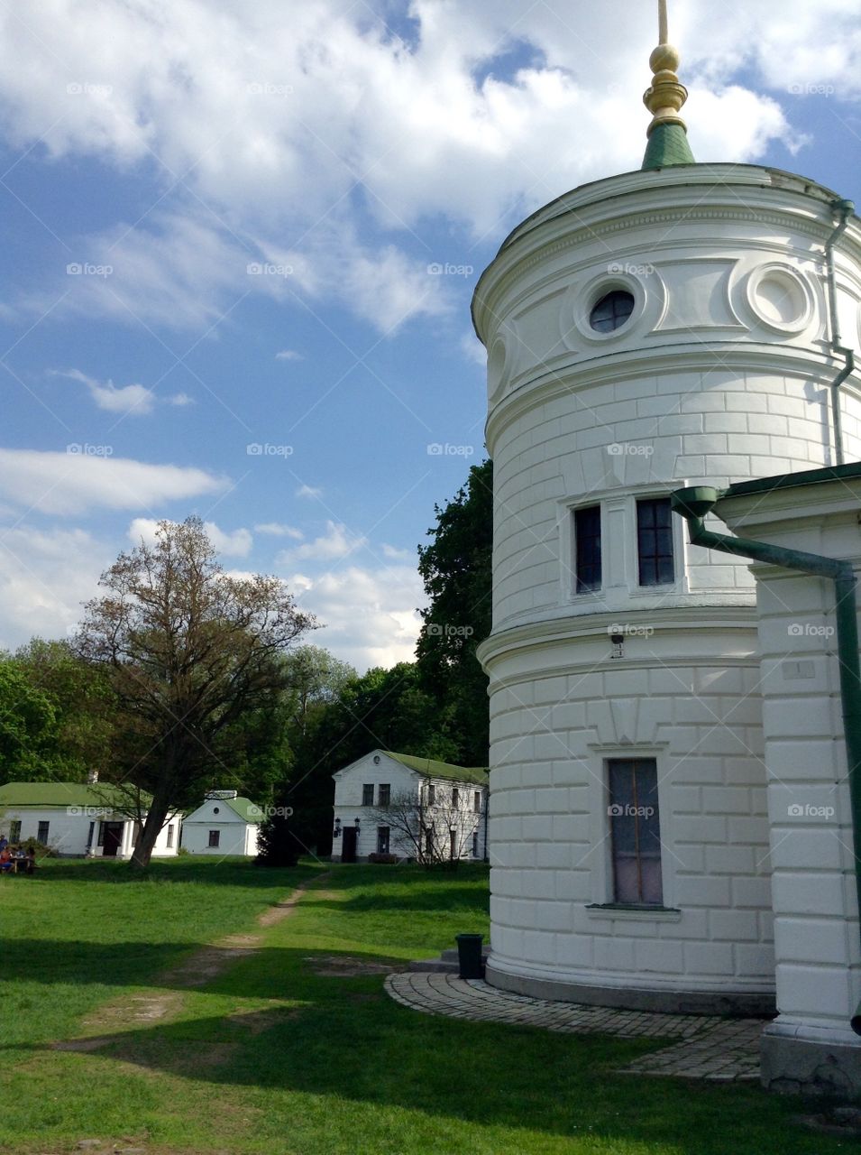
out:
M415 648L419 685L432 695L450 759L487 766L487 677L476 647L491 633L493 462L470 469L465 487L435 507L433 541L419 546L419 573L428 597Z

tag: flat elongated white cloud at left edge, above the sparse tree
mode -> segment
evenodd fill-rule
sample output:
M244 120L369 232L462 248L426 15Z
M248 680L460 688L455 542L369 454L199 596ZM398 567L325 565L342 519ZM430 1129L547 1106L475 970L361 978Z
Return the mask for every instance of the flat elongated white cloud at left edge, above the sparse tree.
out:
M226 486L203 469L113 457L111 446L74 445L67 453L0 449L0 497L42 513L151 508Z

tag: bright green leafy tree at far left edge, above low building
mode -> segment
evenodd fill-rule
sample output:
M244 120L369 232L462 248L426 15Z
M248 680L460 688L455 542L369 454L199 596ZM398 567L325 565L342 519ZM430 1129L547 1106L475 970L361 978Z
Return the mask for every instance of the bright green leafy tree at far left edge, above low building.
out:
M0 657L0 783L53 777L57 710L8 654Z

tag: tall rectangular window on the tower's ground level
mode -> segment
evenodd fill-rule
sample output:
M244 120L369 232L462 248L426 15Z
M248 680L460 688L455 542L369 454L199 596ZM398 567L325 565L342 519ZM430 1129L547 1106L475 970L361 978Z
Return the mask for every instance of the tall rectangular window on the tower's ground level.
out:
M658 766L653 758L613 758L607 769L613 901L661 906Z

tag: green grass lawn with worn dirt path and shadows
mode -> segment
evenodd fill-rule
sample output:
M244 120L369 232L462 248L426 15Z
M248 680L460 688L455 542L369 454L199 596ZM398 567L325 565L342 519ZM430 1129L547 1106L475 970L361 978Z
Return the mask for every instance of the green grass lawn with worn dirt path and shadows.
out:
M300 884L289 917L261 929ZM0 1148L20 1155L90 1138L154 1155L851 1147L800 1128L803 1104L755 1086L614 1073L651 1042L422 1015L390 1000L381 975L337 973L338 956L409 960L486 931L479 866L179 858L133 881L122 863L54 862L0 879ZM189 957L225 936L245 952L189 982Z

